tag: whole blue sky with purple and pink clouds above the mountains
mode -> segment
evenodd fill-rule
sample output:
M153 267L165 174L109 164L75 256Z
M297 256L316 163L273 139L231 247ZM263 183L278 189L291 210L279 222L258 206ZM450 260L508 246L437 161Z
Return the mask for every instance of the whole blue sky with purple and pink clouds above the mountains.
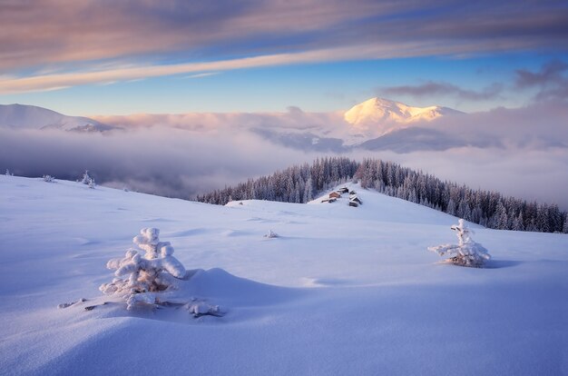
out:
M471 113L563 94L565 1L469 3L3 0L0 103L330 112L381 96Z

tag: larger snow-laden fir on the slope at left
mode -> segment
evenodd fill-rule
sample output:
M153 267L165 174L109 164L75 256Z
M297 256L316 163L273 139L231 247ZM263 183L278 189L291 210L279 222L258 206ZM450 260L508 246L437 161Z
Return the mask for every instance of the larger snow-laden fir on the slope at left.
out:
M113 282L103 283L99 290L121 297L129 310L137 304L166 302L165 292L176 290L186 270L173 256L170 242L160 242L159 236L158 229L142 229L132 242L145 252L144 256L131 248L123 258L107 262L106 267L116 271L116 278Z

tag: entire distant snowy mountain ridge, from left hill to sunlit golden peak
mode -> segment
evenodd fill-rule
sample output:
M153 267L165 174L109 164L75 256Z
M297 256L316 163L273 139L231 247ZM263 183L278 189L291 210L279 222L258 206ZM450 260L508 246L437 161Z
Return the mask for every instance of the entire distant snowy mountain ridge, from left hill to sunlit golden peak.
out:
M424 125L454 114L464 113L438 105L413 107L384 98L371 98L345 113L336 112L329 115L329 123L318 123L318 118L314 122L314 118L310 116L300 117L298 120L294 117L298 116L296 114L289 119L275 115L280 124L274 125L266 115L259 115L258 121L251 122L251 125L243 130L259 135L271 143L310 152L345 153L364 149L406 153L413 150L446 150L464 146L465 141L446 134L443 130L429 129ZM217 115L220 124L223 124L225 117L222 114ZM215 116L216 114L213 114L213 117ZM243 117L243 121L250 122L251 116L254 118L254 114L248 114ZM195 123L200 122L201 119L197 117ZM103 124L83 116L67 116L34 105L0 104L0 128L57 129L80 133L123 129L119 126L120 120L111 124ZM295 125L289 126L290 124Z

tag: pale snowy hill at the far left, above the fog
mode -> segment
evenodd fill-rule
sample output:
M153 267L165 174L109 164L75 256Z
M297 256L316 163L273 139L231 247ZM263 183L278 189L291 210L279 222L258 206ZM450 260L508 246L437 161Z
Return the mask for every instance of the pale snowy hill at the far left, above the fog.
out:
M103 132L115 129L88 117L66 116L43 107L24 104L0 104L0 127L75 132Z

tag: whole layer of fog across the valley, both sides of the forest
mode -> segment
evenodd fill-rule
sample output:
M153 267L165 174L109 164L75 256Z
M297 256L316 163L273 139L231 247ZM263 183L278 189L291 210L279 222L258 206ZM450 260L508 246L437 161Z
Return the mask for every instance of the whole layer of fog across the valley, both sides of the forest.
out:
M349 136L340 114L306 114L297 108L283 114L140 114L97 120L126 131L0 129L0 168L72 180L89 169L105 185L189 198L290 164L310 163L317 156L338 154L333 147L326 150L335 143L321 143L316 135L328 140ZM375 151L336 152L358 160L392 160L473 188L568 209L568 109L563 103L446 117L413 124L408 130L412 129L433 136L418 137L410 147L403 130L390 137L406 149L391 143ZM299 138L292 140L289 134Z

